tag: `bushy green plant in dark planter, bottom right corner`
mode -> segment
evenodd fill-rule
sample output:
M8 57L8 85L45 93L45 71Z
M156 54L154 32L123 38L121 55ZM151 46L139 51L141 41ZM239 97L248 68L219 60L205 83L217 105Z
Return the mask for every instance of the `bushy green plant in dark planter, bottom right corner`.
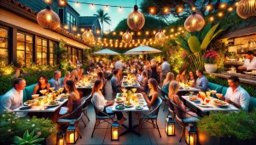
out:
M254 144L256 110L247 113L211 113L197 122L200 144Z

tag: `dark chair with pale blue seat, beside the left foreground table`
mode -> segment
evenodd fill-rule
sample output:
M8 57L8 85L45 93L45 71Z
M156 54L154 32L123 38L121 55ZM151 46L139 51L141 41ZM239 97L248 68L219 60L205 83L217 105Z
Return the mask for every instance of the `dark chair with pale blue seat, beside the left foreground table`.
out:
M79 105L79 107L77 108L77 109L75 109L75 110L73 110L73 112L71 112L71 113L69 113L69 114L65 114L65 115L63 115L63 116L61 116L61 117L59 117L56 121L55 121L55 123L57 124L57 125L79 125L79 121L80 120L82 120L83 121L83 123L84 123L84 120L83 120L83 118L82 118L82 109L83 109L83 106L84 106L84 101L82 101L82 103ZM80 113L80 115L79 115L79 117L78 118L76 118L76 119L68 119L69 117L71 117L71 116L73 116L73 115L75 115L75 114L78 114L78 113ZM85 124L84 124L85 125ZM80 133L80 131L79 131L79 136L80 136L80 138L82 138L82 136L81 136L81 133Z

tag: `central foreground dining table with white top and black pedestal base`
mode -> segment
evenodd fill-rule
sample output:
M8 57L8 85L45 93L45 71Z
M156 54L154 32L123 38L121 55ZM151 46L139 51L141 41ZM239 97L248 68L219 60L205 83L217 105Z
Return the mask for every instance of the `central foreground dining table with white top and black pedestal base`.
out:
M143 103L143 109L137 109L136 104L133 104L131 107L125 107L124 109L118 109L118 108L116 108L116 106L119 105L120 103L117 103L115 101L114 104L113 104L113 108L112 108L113 112L128 112L128 115L129 115L128 126L123 125L126 130L124 132L120 133L120 136L125 135L128 132L132 132L132 133L137 134L137 136L141 136L141 134L139 132L134 130L138 125L132 125L132 113L149 111L149 109L148 109L146 100L143 98L143 94L142 93L137 93L137 96L139 96L139 98L137 98L137 101ZM116 98L123 98L123 100L125 100L125 97L121 97L119 95L119 93L117 93ZM122 103L122 104L125 105L125 103Z

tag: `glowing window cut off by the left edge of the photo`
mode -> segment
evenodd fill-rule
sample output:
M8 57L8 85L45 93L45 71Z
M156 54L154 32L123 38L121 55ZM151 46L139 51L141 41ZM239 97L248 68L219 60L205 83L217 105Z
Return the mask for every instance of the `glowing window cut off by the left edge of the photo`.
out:
M0 28L0 65L8 64L8 30Z

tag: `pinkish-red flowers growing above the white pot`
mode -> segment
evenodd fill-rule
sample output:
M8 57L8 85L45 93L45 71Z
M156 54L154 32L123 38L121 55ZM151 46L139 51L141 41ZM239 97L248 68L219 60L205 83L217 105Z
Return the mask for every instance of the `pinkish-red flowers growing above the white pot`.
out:
M207 50L207 53L202 55L202 61L205 64L217 64L218 59L220 59L220 54L214 50Z

